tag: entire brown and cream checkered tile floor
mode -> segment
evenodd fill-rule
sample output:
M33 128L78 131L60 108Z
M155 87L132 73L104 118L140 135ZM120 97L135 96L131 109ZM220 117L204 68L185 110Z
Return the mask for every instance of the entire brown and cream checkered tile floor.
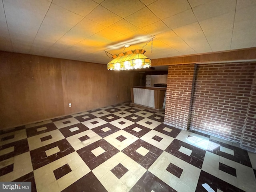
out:
M255 192L256 154L163 121L124 103L2 130L0 181L33 192Z

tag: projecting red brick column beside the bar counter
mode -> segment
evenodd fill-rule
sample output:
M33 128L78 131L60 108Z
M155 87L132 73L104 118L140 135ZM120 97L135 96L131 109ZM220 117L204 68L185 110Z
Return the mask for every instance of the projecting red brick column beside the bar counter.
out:
M190 123L196 64L168 68L164 123L187 130Z

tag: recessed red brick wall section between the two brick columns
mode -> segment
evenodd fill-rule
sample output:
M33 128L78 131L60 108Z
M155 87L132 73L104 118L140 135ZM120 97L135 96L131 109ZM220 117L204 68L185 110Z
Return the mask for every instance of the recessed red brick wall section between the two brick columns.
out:
M190 128L240 142L255 66L198 65Z

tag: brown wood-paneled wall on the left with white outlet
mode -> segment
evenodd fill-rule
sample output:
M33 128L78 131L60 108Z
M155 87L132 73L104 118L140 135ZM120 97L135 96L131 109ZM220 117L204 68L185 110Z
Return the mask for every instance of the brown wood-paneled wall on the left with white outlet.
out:
M102 64L0 52L0 129L130 101L139 82Z

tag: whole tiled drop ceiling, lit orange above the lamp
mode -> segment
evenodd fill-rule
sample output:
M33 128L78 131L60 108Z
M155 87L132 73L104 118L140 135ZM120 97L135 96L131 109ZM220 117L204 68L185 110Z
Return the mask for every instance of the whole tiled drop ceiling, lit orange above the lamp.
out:
M100 62L256 46L256 0L2 0L0 50Z

